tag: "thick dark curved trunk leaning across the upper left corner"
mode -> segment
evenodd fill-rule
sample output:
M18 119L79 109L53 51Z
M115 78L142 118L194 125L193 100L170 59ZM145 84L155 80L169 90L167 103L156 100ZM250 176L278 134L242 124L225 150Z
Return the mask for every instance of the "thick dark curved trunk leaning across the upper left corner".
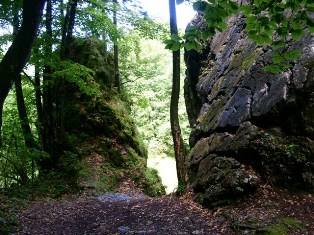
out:
M46 0L24 0L22 26L0 62L0 133L4 101L30 57L45 2Z

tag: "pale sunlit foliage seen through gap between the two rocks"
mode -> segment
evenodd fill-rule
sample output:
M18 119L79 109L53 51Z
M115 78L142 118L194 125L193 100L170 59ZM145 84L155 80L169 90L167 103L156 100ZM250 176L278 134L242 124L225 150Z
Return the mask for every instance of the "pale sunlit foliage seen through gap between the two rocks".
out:
M128 65L129 61L135 61L135 55L125 58L126 66L130 68L129 79L133 81L124 85L132 100L132 116L148 146L150 157L174 156L169 120L171 53L157 40L141 39L138 45L137 66ZM181 65L183 77L183 61ZM183 99L180 99L179 116L187 142L190 129Z

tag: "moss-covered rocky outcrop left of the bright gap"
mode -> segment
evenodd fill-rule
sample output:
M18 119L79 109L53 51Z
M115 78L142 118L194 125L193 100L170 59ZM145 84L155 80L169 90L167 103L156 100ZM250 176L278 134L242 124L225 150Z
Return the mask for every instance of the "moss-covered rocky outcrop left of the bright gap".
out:
M82 158L79 187L101 193L131 179L150 196L165 194L157 171L147 168L130 103L114 88L110 52L96 39L73 40L69 51L72 62L62 71L64 129L68 145Z

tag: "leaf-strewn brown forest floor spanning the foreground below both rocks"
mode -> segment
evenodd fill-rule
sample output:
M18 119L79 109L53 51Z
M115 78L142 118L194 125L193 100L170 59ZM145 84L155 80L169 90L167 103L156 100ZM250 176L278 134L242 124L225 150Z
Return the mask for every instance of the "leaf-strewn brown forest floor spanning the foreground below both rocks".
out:
M150 198L132 182L118 193L42 199L18 213L14 234L314 234L314 196L271 187L229 206L202 208L191 193Z

